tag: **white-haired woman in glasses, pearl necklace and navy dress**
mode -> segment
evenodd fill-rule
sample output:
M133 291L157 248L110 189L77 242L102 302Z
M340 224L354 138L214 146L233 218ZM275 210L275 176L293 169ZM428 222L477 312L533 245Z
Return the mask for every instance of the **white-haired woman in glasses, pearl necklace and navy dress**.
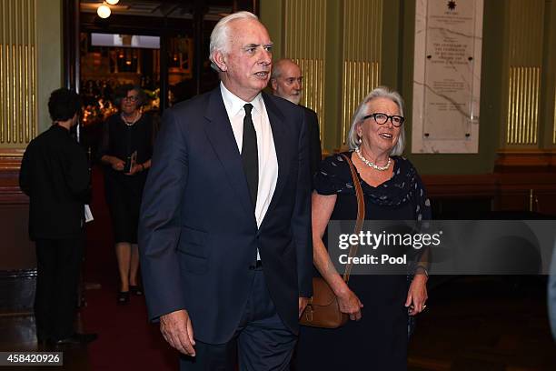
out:
M401 156L404 121L402 97L386 87L372 90L353 115L348 135L350 151L343 155L356 169L366 220L431 217L421 178L409 160ZM343 271L336 269L326 247L328 222L355 220L357 215L350 166L343 156L332 155L323 160L314 188L314 266L331 286L341 311L349 315L350 321L335 329L302 326L296 369L406 370L408 316L415 316L426 307L428 273L426 264L421 262L424 259L415 259L421 263L412 265L409 276L352 275L346 284ZM364 248L359 246L360 253ZM372 254L372 249L367 247L363 253Z

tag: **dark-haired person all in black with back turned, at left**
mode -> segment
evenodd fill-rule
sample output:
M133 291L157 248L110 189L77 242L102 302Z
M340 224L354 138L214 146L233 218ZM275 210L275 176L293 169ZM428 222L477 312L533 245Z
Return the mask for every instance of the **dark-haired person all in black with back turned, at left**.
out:
M39 344L79 344L95 338L74 332L90 184L87 157L70 134L79 109L79 96L70 90L50 95L48 110L54 124L27 146L19 173L19 186L30 198L29 236L36 246Z

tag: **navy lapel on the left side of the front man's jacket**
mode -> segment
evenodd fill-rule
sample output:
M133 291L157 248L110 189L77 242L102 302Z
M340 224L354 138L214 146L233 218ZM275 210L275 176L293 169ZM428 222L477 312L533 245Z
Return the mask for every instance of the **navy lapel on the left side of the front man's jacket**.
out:
M253 223L256 226L249 187L243 174L242 157L237 149L232 124L223 105L220 86L210 93L204 117L210 121L207 125L204 125L204 131L208 140L220 159L220 163L232 184L233 191L237 198L239 198L245 211L252 216ZM211 164L207 165L212 166Z

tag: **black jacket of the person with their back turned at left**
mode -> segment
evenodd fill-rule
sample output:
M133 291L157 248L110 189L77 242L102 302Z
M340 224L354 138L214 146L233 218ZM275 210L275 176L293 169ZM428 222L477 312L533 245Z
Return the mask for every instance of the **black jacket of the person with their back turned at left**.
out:
M82 233L89 165L69 131L53 125L27 145L19 186L30 197L29 236L73 238Z

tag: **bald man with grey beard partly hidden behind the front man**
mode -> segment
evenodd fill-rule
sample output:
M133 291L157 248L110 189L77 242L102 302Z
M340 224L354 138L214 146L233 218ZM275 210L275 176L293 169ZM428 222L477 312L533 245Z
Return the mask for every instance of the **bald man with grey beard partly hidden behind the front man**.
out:
M283 58L273 64L271 74L271 87L273 95L287 99L294 105L299 105L303 90L303 75L299 65L293 60ZM319 118L312 109L303 106L307 132L309 135L309 165L311 175L317 172L322 160L321 135L319 130Z

